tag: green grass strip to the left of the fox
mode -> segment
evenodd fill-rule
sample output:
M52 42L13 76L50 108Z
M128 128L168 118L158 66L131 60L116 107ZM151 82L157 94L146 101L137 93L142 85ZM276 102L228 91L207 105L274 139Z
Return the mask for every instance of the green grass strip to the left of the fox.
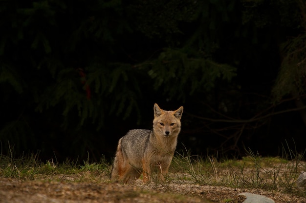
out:
M11 148L8 154L9 156L0 155L0 178L81 182L98 181L98 178L107 177L109 173L109 163L104 157L98 163L89 163L87 160L83 164L76 164L69 160L58 163L53 159L41 162L38 160L38 153L14 158Z

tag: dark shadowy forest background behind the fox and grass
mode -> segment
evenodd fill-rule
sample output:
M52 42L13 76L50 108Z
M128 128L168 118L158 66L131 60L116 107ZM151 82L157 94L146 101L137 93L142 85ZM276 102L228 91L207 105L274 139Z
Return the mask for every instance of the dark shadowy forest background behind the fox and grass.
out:
M184 106L177 150L306 143L305 0L0 0L1 153L111 159Z

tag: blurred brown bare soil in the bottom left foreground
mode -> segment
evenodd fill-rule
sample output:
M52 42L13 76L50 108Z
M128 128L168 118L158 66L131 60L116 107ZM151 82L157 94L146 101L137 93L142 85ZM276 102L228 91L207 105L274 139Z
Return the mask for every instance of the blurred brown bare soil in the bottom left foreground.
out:
M194 196L119 183L18 181L0 178L0 203L210 203Z

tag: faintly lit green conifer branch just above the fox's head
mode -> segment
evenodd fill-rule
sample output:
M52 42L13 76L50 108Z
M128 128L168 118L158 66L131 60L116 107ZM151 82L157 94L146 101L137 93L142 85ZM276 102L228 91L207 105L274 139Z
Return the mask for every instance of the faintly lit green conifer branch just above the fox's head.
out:
M208 59L189 58L183 50L174 49L165 49L158 59L142 66L147 67L154 88L162 89L169 99L185 100L195 92L210 91L217 80L231 81L236 76L235 67Z

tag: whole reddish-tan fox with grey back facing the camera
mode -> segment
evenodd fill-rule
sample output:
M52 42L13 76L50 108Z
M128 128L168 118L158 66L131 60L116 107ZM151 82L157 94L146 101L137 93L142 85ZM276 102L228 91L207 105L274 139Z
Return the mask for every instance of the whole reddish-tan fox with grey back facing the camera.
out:
M119 140L111 169L112 181L132 183L142 174L143 182L147 183L153 172L159 181L165 181L181 130L183 106L166 111L155 103L153 111L152 130L133 129Z

